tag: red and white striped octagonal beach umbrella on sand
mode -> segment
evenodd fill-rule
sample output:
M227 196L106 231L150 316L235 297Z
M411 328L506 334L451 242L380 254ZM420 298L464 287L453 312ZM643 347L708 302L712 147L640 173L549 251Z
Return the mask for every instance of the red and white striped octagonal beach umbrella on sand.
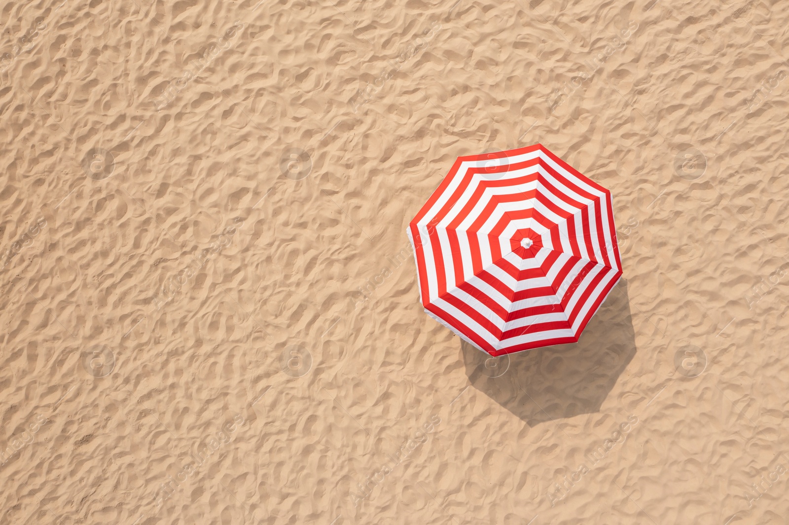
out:
M492 356L578 341L622 276L611 192L541 144L458 158L408 236L428 315Z

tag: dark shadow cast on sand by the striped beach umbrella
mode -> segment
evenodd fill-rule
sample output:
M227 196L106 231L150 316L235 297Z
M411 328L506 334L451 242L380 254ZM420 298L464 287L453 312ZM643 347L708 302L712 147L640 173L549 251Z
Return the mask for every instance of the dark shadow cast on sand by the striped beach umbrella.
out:
M461 349L471 385L529 426L600 411L636 353L627 283L611 290L578 343L500 357L466 341Z

